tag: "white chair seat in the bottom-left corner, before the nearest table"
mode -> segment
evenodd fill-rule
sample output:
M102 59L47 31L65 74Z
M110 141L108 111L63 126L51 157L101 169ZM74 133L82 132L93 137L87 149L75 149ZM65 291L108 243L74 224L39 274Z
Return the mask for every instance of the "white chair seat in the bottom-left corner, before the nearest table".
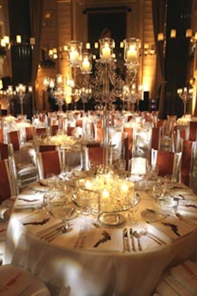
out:
M44 282L38 277L12 263L0 266L0 287L2 295L7 296L51 295Z

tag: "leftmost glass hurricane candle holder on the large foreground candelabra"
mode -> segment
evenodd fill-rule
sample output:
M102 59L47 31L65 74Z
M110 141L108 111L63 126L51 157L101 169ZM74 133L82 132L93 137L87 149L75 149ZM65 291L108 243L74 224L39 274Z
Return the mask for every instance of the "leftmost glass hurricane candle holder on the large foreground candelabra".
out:
M68 42L68 56L71 67L80 67L82 61L82 42Z

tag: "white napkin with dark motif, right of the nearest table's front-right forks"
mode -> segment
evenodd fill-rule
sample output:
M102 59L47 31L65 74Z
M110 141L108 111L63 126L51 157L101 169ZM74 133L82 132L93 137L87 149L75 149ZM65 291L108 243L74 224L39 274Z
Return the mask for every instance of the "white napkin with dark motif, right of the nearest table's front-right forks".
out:
M190 224L184 220L169 216L162 221L151 224L155 231L169 238L169 242L187 235L196 229L195 224Z

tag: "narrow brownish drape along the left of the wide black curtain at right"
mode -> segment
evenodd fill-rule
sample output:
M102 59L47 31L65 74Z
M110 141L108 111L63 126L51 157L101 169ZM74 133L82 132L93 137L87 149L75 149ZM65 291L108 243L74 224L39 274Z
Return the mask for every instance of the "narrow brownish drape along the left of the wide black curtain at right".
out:
M159 118L164 117L165 71L164 71L164 42L158 41L158 34L164 33L166 17L166 0L152 0L154 37L157 52L157 71L155 78L156 97L159 98Z

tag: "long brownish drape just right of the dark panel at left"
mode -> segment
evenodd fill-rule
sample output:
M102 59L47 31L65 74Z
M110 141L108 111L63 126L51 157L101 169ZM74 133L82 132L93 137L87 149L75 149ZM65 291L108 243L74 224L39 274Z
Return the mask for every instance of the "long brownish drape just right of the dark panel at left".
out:
M29 0L30 2L30 24L31 24L31 36L35 38L35 46L32 52L32 75L31 83L35 86L35 79L37 76L37 69L39 61L41 60L41 34L42 34L42 22L43 22L43 0ZM33 91L36 96L35 89ZM36 97L33 97L33 111L36 109Z

